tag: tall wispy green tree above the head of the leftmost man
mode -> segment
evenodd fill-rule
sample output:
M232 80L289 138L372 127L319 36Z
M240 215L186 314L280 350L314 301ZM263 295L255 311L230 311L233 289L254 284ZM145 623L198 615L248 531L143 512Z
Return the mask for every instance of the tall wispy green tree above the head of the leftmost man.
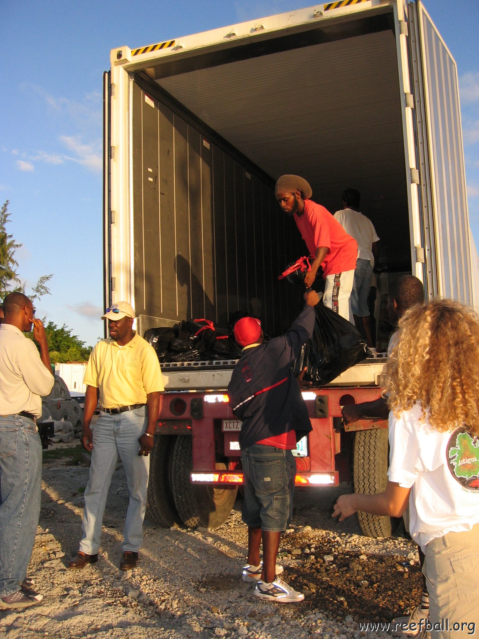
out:
M8 212L8 204L10 200L4 202L0 209L0 299L12 291L20 291L26 293L25 283L22 284L19 278L17 268L19 263L15 259L15 251L22 246L15 242L13 235L7 233L6 225L10 222L10 213ZM42 275L38 282L31 289L31 293L27 294L31 300L39 300L43 295L50 295L50 289L47 282L52 279L53 273L50 275Z

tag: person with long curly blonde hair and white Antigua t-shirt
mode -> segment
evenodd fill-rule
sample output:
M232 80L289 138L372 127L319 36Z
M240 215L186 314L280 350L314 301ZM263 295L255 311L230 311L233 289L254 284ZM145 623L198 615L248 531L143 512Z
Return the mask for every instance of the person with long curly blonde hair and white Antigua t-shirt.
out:
M452 300L409 309L384 369L390 468L386 491L342 495L333 516L400 517L425 553L429 620L459 638L479 627L479 318Z

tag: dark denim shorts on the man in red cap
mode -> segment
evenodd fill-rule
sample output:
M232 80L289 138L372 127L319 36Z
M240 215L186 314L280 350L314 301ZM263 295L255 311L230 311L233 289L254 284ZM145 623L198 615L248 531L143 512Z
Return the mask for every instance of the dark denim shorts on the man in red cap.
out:
M245 524L271 532L286 530L293 516L293 452L255 443L241 450L241 464Z

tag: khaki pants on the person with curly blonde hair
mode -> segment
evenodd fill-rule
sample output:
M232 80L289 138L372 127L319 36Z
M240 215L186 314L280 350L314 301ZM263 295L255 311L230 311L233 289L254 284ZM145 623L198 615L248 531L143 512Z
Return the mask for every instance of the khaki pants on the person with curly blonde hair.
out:
M429 592L431 639L478 636L479 524L432 539L422 571Z

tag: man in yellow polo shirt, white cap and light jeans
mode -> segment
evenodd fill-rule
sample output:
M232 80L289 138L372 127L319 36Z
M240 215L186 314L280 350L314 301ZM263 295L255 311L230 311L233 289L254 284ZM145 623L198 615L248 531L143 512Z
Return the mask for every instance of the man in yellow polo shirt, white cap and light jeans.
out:
M123 463L130 500L123 528L120 568L137 565L146 511L149 452L158 420L160 392L164 390L160 362L153 347L133 332L135 312L128 302L105 311L110 337L93 349L85 371L82 446L91 451L89 480L85 489L82 541L68 567L79 569L98 560L103 512L118 462ZM100 399L100 417L90 428Z

